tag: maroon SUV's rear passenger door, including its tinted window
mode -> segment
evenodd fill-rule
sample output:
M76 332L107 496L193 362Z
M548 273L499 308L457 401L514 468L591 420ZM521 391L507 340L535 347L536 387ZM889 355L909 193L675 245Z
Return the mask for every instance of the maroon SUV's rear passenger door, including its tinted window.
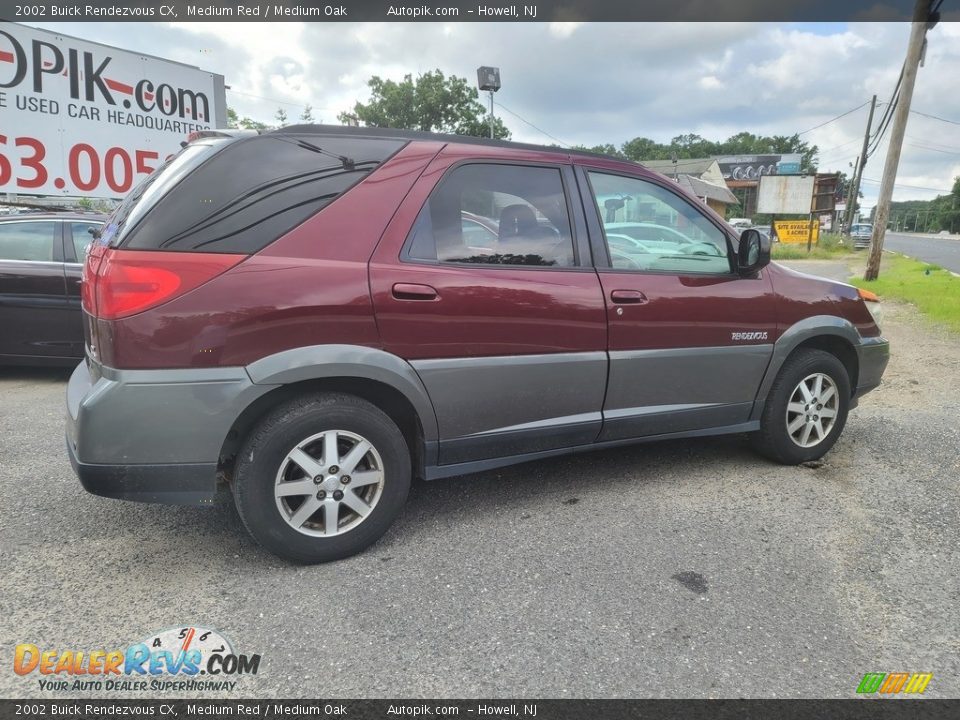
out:
M461 152L435 158L371 260L384 347L423 380L440 464L592 443L606 315L572 167Z

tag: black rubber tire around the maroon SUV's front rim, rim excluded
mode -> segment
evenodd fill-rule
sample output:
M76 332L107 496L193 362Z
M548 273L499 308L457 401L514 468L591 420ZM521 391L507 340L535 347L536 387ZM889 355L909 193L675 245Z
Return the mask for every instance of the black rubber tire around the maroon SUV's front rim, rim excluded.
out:
M787 405L801 381L817 373L830 378L836 388L836 407L832 408L836 416L819 442L811 447L803 447L791 437L787 429ZM812 405L811 412L817 412L816 407L817 405ZM850 378L843 363L835 355L822 350L801 349L787 358L773 381L760 417L760 430L751 435L751 444L761 455L784 465L799 465L819 460L827 454L843 432L849 409ZM819 416L814 417L819 419Z

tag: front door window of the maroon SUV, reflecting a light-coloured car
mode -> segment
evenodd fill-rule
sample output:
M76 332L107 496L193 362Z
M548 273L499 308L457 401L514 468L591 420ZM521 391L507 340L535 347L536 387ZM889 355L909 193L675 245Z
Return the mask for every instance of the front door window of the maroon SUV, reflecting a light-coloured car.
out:
M684 198L637 178L588 175L614 268L731 271L726 235Z

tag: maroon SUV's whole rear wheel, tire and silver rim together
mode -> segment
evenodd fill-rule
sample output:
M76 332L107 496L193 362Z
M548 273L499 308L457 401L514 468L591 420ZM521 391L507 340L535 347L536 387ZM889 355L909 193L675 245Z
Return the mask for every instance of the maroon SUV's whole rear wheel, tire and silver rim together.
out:
M410 489L403 434L352 395L290 401L248 436L234 472L237 510L265 548L295 562L348 557L387 531Z

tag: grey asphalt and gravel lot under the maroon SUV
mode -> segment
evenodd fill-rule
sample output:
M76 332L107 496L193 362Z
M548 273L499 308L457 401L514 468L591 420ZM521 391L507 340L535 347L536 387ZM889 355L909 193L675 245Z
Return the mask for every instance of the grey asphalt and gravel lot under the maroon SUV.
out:
M822 465L726 437L420 483L369 551L315 567L229 504L87 494L68 373L2 369L0 696L91 695L15 675L18 643L187 625L262 654L233 697L852 697L898 671L960 696L960 343L906 306L884 330L884 384Z

